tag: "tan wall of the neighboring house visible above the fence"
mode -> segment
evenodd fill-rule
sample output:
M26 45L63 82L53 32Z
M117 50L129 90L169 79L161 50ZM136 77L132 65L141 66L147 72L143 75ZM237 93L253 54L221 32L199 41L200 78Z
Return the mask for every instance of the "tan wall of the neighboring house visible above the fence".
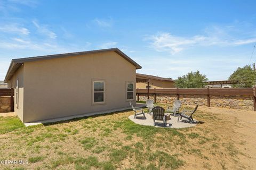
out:
M136 88L145 89L147 82L136 83ZM160 80L149 80L150 88L162 89L162 88L174 88L174 82L171 81L160 81Z

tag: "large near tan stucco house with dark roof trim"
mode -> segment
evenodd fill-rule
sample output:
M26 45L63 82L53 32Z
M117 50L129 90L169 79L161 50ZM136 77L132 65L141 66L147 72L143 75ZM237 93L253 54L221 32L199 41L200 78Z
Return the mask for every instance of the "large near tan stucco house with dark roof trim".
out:
M127 108L135 104L136 69L118 48L11 61L5 82L14 88L22 122Z

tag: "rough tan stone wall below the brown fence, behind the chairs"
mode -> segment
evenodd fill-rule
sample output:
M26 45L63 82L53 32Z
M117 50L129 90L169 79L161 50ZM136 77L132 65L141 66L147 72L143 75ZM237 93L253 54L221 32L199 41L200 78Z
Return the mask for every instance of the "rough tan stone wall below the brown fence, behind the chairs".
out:
M154 100L154 95L149 96L150 99ZM148 99L147 94L140 94L139 100L146 101ZM176 95L157 94L156 102L163 104L172 105L177 100ZM196 105L207 106L206 95L180 95L180 100L184 105ZM253 97L252 96L230 96L230 95L219 95L210 96L210 105L212 107L225 107L234 109L244 109L253 111Z

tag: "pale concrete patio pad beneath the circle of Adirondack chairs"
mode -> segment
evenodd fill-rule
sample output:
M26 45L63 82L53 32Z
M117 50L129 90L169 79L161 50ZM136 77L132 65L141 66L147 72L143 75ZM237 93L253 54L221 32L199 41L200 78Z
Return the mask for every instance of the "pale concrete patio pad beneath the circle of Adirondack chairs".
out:
M129 119L133 121L134 123L140 124L140 125L146 125L146 126L154 126L154 121L152 119L152 116L148 113L145 113L146 119L143 119L143 115L139 115L136 118L133 118L134 115L129 116ZM171 120L167 121L167 125L163 125L163 121L156 121L155 127L161 127L161 128L189 128L196 126L198 123L196 120L193 124L189 123L186 118L183 118L180 122L177 122L178 116L172 116Z

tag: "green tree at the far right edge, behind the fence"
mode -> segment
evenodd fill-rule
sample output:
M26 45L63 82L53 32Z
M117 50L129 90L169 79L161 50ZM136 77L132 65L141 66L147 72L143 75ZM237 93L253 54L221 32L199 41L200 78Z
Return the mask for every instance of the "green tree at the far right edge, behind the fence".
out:
M238 82L233 84L233 87L253 87L256 81L256 74L250 65L245 65L243 68L238 67L228 80L236 80Z

